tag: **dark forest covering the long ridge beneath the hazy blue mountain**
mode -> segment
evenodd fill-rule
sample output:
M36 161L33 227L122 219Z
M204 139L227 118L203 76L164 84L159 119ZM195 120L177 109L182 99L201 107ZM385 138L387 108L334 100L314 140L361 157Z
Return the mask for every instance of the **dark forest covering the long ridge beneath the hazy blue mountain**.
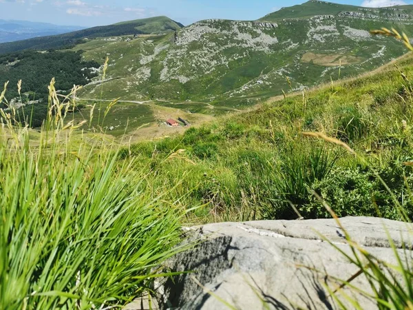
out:
M96 39L97 37L124 36L128 34L142 34L136 27L145 23L125 23L120 25L105 25L84 30L78 30L54 36L38 37L28 40L1 43L0 54L17 52L22 50L58 50L72 48L81 43L83 39Z

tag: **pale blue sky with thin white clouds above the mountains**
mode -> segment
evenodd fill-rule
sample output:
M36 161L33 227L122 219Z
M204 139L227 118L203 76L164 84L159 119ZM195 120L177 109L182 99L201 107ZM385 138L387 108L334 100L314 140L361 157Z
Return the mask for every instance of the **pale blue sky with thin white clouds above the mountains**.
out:
M253 20L306 0L0 0L0 19L43 21L57 25L107 25L167 15L188 25L201 19ZM412 4L413 0L335 1L357 6Z

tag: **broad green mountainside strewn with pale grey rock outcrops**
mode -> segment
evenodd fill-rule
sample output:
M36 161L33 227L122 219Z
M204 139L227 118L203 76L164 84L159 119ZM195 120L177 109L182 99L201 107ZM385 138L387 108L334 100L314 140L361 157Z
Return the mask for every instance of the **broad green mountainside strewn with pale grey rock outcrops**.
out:
M83 50L90 61L109 56L105 98L160 99L171 107L196 101L198 110L211 112L210 105L249 106L282 90L377 68L405 48L369 30L394 26L413 34L412 12L413 6L372 9L309 1L258 21L209 19L176 36L91 41L74 50ZM97 90L96 83L86 86L84 95L100 96Z

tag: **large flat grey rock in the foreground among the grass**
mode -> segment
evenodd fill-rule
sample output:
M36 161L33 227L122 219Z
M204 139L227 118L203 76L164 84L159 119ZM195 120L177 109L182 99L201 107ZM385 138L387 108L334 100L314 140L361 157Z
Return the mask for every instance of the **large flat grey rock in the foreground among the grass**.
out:
M359 245L394 264L385 227L399 251L403 251L402 240L410 240L409 229L413 229L410 224L379 218L349 217L342 218L341 223ZM165 280L160 309L228 309L219 298L235 309L339 309L324 287L336 287L326 274L348 280L358 271L320 236L351 253L335 220L218 223L187 231L187 242L202 242L167 265L170 271L195 272ZM352 285L370 288L363 276ZM377 309L371 300L344 291L358 300L362 309Z

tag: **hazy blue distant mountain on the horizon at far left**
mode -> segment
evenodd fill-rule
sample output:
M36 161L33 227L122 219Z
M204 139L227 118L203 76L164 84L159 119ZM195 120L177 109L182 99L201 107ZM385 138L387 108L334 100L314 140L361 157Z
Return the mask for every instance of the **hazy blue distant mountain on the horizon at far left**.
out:
M0 19L0 43L63 34L81 29L77 26Z

